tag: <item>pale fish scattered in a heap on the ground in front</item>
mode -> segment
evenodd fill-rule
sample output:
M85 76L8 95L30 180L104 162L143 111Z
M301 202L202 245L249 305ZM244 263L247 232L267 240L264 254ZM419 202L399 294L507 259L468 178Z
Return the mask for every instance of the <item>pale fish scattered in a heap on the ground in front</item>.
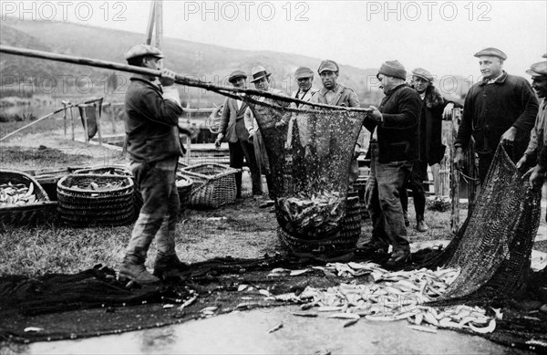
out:
M298 296L294 293L268 295L267 290L260 293L277 301L301 304L294 316L325 314L326 318L345 319L344 327L356 324L361 318L378 322L408 319L408 328L431 333L439 328L490 333L496 328L496 318L502 318L500 310L495 308L492 308L492 315L487 316L486 310L479 307L433 308L425 305L441 296L459 277L457 268L389 272L374 263L333 263L304 270L276 268L269 276L298 276L314 270L321 270L325 276L354 279L326 289L306 287ZM372 282L357 283L355 277L364 276ZM240 286L240 290L243 289Z

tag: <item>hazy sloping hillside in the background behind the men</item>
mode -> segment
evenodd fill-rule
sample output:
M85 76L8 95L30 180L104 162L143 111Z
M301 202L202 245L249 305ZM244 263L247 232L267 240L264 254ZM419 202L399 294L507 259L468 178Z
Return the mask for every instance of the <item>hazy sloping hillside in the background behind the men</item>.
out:
M125 62L124 51L142 42L144 37L139 33L81 26L69 22L20 21L13 17L6 17L0 21L0 31L0 43L3 45L120 63ZM163 47L167 56L165 66L177 73L226 84L226 77L232 70L239 68L250 72L253 66L261 64L273 72L275 88L286 92L295 89L291 74L296 68L307 66L315 69L321 62L320 58L314 57L273 51L244 51L169 37L164 39ZM338 59L335 56L333 58ZM46 93L54 98L95 95L121 99L127 86L127 79L124 79L128 78L127 74L114 73L110 70L4 54L0 62L3 76L13 75L19 82L34 82L37 94ZM355 89L363 103L377 103L383 94L374 85L370 87L370 82L374 83L371 78L375 78L376 73L375 68L362 69L341 64L339 80ZM124 78L114 78L116 75ZM88 78L92 80L92 84ZM318 77L315 77L315 86L320 86ZM25 89L29 89L29 86ZM188 91L188 88L185 89L186 93ZM191 106L195 107L200 93L198 89L190 89L190 92ZM183 99L187 99L186 95L183 96ZM201 92L201 106L213 102L222 102L222 97Z

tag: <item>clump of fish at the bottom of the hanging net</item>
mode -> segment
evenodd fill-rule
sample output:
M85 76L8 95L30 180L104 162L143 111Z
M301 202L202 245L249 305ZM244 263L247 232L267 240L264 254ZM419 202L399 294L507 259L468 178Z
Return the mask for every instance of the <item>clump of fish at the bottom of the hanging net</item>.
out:
M338 192L323 192L311 197L300 194L277 200L287 221L284 229L291 234L316 238L334 231L345 215L344 199Z

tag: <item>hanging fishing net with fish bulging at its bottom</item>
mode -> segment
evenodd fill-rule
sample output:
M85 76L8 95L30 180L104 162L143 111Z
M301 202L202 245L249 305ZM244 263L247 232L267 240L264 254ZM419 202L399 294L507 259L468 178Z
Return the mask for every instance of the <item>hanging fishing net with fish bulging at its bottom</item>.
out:
M356 234L345 234L347 197L350 164L365 111L301 110L286 102L255 99L249 106L268 156L280 237L292 238L289 246L294 240L310 242L303 242L310 250L316 246L312 241L319 240L332 240L335 245L349 238L355 239L355 246L360 225ZM330 254L336 252L342 250Z

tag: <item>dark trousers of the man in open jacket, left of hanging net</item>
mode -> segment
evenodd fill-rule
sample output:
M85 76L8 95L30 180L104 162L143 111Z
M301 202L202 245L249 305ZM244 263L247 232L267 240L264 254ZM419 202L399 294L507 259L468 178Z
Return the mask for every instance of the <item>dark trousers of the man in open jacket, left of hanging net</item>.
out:
M228 149L230 150L230 166L234 169L242 169L243 159L245 159L251 171L253 194L262 194L262 179L258 164L256 163L253 144L248 141L236 141L235 143L228 143ZM235 188L236 197L242 197L242 172L235 174Z

